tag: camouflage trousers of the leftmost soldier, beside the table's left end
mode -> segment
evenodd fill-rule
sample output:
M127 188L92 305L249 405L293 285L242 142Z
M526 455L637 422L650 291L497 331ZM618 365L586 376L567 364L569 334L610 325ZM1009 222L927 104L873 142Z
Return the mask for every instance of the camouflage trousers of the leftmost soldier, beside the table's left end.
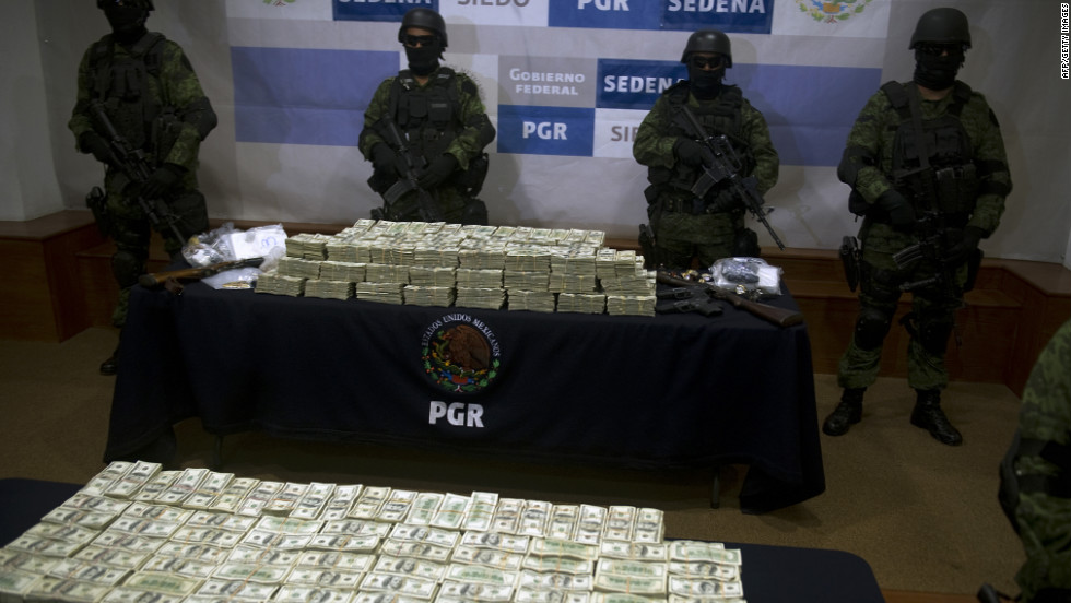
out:
M110 175L109 175L110 176ZM208 230L209 217L204 196L188 185L196 180L187 175L187 180L178 190L168 194L166 201L156 200L151 206L160 220L154 225L136 197L116 190L117 180L105 178L107 189L105 232L115 241L116 252L111 256L111 274L119 285L119 299L111 311L111 323L122 328L127 322L127 311L130 307L130 289L138 283L138 277L148 271L149 246L152 230L156 230L164 239L164 250L170 261L181 257L183 245L197 234ZM128 187L126 192L130 192ZM175 224L183 238L179 239L167 225Z

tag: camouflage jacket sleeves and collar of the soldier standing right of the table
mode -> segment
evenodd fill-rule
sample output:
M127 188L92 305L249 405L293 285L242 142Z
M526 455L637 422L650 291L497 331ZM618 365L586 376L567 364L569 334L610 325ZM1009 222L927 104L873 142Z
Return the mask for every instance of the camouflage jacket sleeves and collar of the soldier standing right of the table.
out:
M915 86L904 83L904 86ZM949 113L955 102L950 93L940 100L922 100L921 113L923 120L934 119ZM997 117L986 98L970 92L969 99L964 104L960 114L960 122L969 137L974 156L970 161L978 168L979 192L970 215L970 226L977 226L992 234L1000 224L1004 212L1004 198L1011 191L1011 174L1008 170L1008 157L1004 154L1004 141L1000 134ZM851 162L856 169L854 188L862 194L868 203L874 203L878 198L893 188L893 147L896 130L903 118L893 107L884 92L876 92L859 113L848 135L845 162ZM845 180L841 163L841 180ZM847 182L852 185L852 182Z

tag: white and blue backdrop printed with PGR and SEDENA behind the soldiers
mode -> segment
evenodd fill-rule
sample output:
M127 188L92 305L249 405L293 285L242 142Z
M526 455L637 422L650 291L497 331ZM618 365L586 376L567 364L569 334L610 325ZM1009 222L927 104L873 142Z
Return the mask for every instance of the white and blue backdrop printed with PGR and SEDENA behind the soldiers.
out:
M396 38L401 15L427 7L447 22L445 62L479 81L498 131L481 194L493 224L634 237L646 220L646 169L632 158L636 129L658 94L685 76L679 60L688 34L713 27L732 39L728 82L763 111L780 154L780 179L767 194L770 222L789 247L819 249L858 227L836 164L859 109L882 82L910 79L907 46L918 16L955 5L968 15L974 40L961 79L986 94L999 117L1015 185L1003 224L984 248L992 257L1067 263L1071 85L1061 76L1067 55L1055 0L155 4L150 28L184 46L220 116L201 153L213 216L367 217L379 200L356 150L363 113L377 84L404 67ZM36 0L30 12L36 35L23 45L40 57L49 162L63 204L79 206L99 167L73 152L66 121L78 60L107 24L89 0ZM9 119L4 128L22 126Z

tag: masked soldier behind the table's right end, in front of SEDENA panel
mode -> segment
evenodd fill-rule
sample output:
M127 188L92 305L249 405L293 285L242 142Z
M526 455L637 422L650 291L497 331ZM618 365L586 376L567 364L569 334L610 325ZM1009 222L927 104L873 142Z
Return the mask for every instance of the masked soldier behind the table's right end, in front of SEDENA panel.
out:
M760 255L758 237L744 225L742 200L727 184L710 188L703 199L691 192L709 152L690 138L680 121L681 107L691 108L708 137L725 134L742 158L741 177L754 175L760 193L777 182L779 159L769 140L769 128L758 109L743 97L739 86L722 83L732 67L729 37L716 29L693 33L681 62L688 79L659 96L644 117L633 156L648 167L651 182L644 191L647 215L655 235L655 265L687 269L693 258L702 268L716 260Z

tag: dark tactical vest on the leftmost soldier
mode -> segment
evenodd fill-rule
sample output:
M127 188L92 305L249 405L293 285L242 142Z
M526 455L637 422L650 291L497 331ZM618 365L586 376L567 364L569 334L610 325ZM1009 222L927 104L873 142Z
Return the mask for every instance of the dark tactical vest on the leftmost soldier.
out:
M130 47L129 54L117 56L109 34L90 50L91 98L103 100L116 130L134 147L146 151L155 142L156 118L164 113L154 98L158 97L158 86L156 94L150 90L150 79L160 76L163 40L162 34L150 32Z

